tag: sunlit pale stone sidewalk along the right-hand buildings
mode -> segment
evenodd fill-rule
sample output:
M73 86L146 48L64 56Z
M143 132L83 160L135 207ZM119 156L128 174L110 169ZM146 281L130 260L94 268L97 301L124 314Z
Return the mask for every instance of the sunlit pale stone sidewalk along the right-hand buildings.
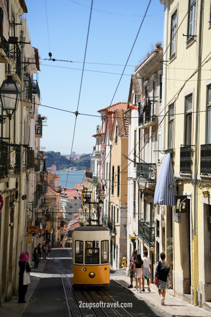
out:
M127 276L110 276L110 279L120 284L121 286L127 288L130 285L130 278ZM133 286L135 286L135 281L133 281ZM135 288L127 288L132 293L135 293ZM160 296L158 294L157 288L154 289L154 284L150 284L151 292L147 291L147 285L145 284L145 292L134 294L134 296L139 296L141 299L150 302L152 305L155 305L161 309L161 312L164 311L170 314L172 317L210 317L210 311L200 308L198 306L193 306L180 298L174 297L172 295L166 294L165 296L165 305L161 306Z

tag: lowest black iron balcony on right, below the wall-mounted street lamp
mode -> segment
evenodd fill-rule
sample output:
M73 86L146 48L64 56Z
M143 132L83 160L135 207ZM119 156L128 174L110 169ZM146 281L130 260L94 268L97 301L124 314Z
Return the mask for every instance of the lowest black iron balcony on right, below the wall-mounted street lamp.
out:
M154 249L155 247L155 227L154 222L144 222L143 219L138 220L138 233L142 241Z

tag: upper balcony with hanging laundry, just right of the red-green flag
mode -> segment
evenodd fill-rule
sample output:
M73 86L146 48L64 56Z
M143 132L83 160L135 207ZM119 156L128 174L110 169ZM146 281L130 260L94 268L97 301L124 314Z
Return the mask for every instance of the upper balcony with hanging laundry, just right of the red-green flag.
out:
M158 97L154 97L155 100L158 99ZM141 105L139 106L141 107ZM157 105L156 101L153 102L151 101L149 106L145 106L144 108L144 113L139 114L139 126L142 126L141 128L147 128L149 123L151 123L151 126L156 126L157 125Z

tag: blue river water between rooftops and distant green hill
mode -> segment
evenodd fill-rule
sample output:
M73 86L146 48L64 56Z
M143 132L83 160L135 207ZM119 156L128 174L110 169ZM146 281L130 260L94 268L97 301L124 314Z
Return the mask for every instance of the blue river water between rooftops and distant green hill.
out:
M59 185L62 187L68 187L69 189L76 187L76 183L83 183L83 178L84 178L84 171L73 171L70 170L68 171L56 171L56 175L59 175ZM66 185L67 182L67 185Z

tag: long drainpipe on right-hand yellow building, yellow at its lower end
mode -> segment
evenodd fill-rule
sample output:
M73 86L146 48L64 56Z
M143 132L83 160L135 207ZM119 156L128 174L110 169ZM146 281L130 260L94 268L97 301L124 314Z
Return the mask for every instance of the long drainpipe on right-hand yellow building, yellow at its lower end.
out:
M202 18L203 18L204 0L200 4L200 20L199 20L199 44L198 44L198 67L202 62ZM197 91L196 91L196 114L195 114L195 152L194 152L194 197L193 197L193 304L197 304L197 158L198 158L198 125L199 125L199 102L200 102L200 86L201 86L201 68L197 74Z

